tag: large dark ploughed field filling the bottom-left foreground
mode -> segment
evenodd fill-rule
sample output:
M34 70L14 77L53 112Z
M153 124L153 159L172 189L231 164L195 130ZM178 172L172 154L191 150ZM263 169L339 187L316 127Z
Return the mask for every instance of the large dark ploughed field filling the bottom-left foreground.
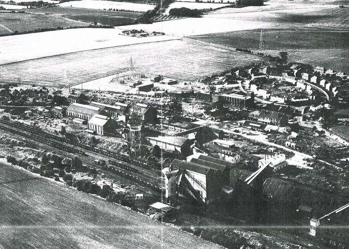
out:
M0 164L0 247L214 248L213 243Z

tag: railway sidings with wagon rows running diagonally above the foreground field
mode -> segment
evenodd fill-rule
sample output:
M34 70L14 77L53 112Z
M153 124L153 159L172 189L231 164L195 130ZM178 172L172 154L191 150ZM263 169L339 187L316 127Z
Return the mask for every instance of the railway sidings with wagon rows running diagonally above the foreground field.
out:
M23 130L20 130L18 128L9 127L6 124L0 123L0 129L5 130L13 136L15 134L18 137L25 137L25 141L30 141L31 143L34 143L35 145L39 145L43 149L47 150L54 150L55 153L57 152L58 155L62 155L63 157L67 156L67 153L70 153L70 157L75 157L75 150L72 149L72 145L66 144L61 141L52 141L48 140L47 138L40 137L40 136L33 136L30 132L26 132ZM57 151L57 149L59 149ZM87 149L79 148L80 150L80 156L82 163L85 165L98 169L100 172L106 173L108 175L113 176L113 178L120 179L121 181L135 185L139 184L142 189L145 190L146 193L152 193L154 194L154 191L156 193L159 193L161 191L161 177L151 175L149 172L147 172L145 169L141 167L136 167L132 164L123 162L121 160L116 160L114 158L108 157L106 155L101 155L93 151L89 151ZM64 151L64 152L63 152ZM121 165L125 165L127 167L130 167L130 169L137 169L137 173L134 172L134 170L126 170L125 168L117 167L116 165L111 166L99 166L94 164L95 159L100 160L106 160L106 161L114 161ZM127 178L127 179L126 179ZM146 186L146 187L145 187ZM151 192L149 191L151 190Z

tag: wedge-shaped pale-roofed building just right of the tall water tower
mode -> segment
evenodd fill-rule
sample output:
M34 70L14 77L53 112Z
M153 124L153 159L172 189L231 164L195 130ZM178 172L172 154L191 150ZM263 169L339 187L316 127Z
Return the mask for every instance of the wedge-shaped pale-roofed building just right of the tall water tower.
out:
M146 140L152 145L158 145L161 149L180 152L184 156L191 154L191 145L193 141L178 136L159 136L159 137L146 137Z

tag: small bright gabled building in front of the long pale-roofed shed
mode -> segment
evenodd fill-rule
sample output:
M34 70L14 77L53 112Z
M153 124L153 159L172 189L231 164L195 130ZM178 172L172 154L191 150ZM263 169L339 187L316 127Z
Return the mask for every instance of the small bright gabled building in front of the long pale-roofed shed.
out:
M114 134L117 123L114 119L95 114L87 122L88 129L94 131L98 135Z

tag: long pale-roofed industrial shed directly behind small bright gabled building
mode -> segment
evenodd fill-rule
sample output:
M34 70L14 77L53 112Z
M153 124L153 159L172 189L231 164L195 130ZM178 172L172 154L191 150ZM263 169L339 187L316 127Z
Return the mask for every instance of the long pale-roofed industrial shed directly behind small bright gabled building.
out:
M66 109L67 117L80 118L83 120L89 120L94 114L108 115L108 113L104 112L98 107L78 103L72 103Z

